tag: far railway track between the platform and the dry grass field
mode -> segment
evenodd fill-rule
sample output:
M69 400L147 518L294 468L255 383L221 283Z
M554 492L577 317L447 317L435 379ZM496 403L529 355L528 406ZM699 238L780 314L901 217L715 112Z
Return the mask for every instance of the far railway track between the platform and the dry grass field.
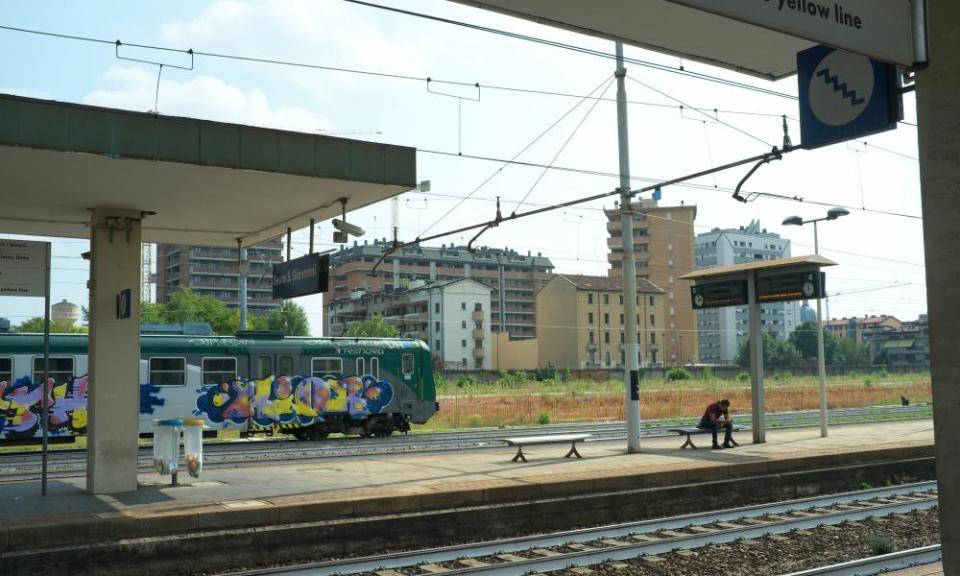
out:
M929 417L929 406L875 406L830 411L833 424L876 422L890 419ZM738 414L737 420L749 422L749 414ZM767 415L770 428L813 426L819 423L818 411L780 412ZM688 419L648 420L643 423L644 437L671 435L667 430L689 425ZM368 457L403 453L429 453L456 450L502 448L506 437L543 434L589 433L593 441L618 440L626 437L623 422L591 422L554 424L529 428L482 429L464 432L430 432L386 438L330 438L320 442L293 439L241 439L229 443L204 445L205 468L270 465L317 458ZM143 447L139 456L140 470L152 469L151 449ZM55 479L83 476L86 452L82 449L55 450L48 454L48 477ZM0 484L37 480L40 477L40 454L22 452L0 455Z

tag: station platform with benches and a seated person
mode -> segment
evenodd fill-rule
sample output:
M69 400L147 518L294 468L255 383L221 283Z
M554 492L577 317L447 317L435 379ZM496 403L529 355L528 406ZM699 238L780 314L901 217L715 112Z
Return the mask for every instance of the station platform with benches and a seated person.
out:
M504 446L211 468L201 479L182 474L177 487L164 484L169 478L141 474L138 491L110 496L87 494L82 478L51 481L46 497L39 482L5 484L0 563L29 567L37 560L50 569L58 563L51 564L51 555L72 557L64 565L78 573L83 559L96 566L103 555L147 544L160 553L161 542L170 542L180 554L227 550L227 538L231 545L262 548L272 544L255 542L254 532L269 539L273 530L279 541L291 529L304 540L316 536L314 547L301 546L304 553L343 556L384 542L429 544L458 526L486 538L519 526L549 529L563 515L581 524L620 521L627 518L611 516L680 514L693 500L703 509L728 508L758 498L855 490L858 478L862 485L901 473L907 480L932 474L928 420L835 426L828 438L820 438L819 428L771 430L760 445L749 444L746 433L738 436L742 445L730 450L681 450L679 436L644 439L637 454L626 454L625 441L587 442L579 447L582 460L563 458L569 446L556 444L525 447L528 463L512 462L516 449ZM700 438L705 441L698 444L709 446L709 436ZM868 468L879 472L870 476ZM810 476L812 469L820 472ZM370 537L358 542L358 534ZM264 558L262 549L254 557Z

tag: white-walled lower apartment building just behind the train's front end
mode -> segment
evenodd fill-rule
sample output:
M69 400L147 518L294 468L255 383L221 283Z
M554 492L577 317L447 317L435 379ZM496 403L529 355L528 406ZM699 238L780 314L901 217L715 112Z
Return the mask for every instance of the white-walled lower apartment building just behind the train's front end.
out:
M469 278L380 292L357 290L325 304L328 334L340 336L359 321L382 316L405 338L430 346L447 369L491 369L492 289Z

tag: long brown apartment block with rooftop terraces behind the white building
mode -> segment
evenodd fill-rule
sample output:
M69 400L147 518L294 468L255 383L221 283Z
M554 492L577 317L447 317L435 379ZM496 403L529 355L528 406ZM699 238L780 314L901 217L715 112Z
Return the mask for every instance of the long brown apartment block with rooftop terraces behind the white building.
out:
M535 294L552 276L549 258L509 248L481 247L470 252L451 244L408 246L380 262L389 246L386 240L375 240L372 244L354 243L331 254L330 289L324 294L324 302L347 298L358 290L399 290L417 280L443 283L470 278L492 290L490 329L494 333L506 332L515 340L536 336ZM333 334L326 320L324 327L324 334Z

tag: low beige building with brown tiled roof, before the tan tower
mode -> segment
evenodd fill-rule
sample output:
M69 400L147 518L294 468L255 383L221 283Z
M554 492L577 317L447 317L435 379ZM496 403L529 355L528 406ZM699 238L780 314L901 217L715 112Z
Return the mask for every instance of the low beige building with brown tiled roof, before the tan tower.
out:
M637 280L640 365L662 364L666 294ZM537 292L537 360L560 368L622 368L623 287L619 278L555 274Z

